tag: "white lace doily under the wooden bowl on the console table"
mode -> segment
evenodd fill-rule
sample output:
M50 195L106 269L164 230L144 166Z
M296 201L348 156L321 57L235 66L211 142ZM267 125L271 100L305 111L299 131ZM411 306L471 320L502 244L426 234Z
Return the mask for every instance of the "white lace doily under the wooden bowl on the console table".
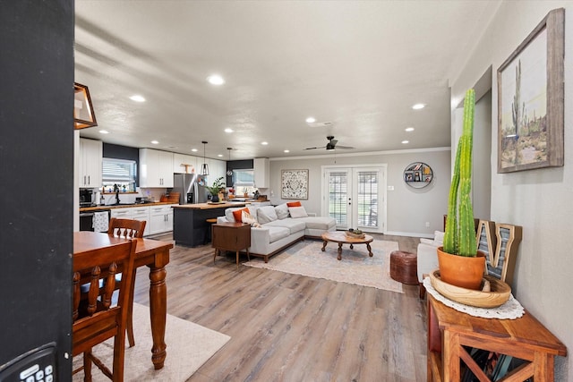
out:
M513 297L513 294L509 294L509 300L497 308L477 308L449 300L449 298L441 295L440 292L433 288L430 277L423 279L423 286L426 288L426 292L432 294L436 300L449 306L449 308L467 313L470 316L481 318L515 319L520 318L525 313L525 310L519 301Z

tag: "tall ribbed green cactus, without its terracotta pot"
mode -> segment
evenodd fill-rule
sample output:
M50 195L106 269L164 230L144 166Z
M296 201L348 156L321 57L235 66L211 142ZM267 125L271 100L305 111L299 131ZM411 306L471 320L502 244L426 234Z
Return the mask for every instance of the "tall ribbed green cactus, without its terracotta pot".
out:
M475 90L466 91L464 127L458 141L454 174L449 188L448 218L443 250L453 255L475 257L474 209L472 190L472 147L474 140Z

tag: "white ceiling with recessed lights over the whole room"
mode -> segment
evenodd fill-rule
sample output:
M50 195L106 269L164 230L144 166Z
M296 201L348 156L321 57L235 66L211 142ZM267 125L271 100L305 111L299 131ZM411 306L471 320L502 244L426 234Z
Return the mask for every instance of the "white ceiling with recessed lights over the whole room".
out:
M76 0L75 81L98 120L81 136L200 157L207 140L225 160L323 155L304 149L327 135L355 148L337 154L449 147L449 81L498 6Z

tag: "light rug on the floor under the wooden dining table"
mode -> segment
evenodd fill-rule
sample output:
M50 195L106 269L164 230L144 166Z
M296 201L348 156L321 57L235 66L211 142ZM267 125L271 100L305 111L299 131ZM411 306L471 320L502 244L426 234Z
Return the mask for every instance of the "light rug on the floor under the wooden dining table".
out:
M125 381L185 381L231 338L207 327L167 315L167 359L163 369L155 370L151 363L150 310L138 303L133 304L133 334L135 346L128 347L127 338L125 339ZM110 339L93 349L96 356L110 369L113 366L113 344L113 339ZM81 355L73 359L73 369L79 366ZM109 382L95 365L91 368L91 374L94 382ZM73 376L74 382L82 380L82 371Z

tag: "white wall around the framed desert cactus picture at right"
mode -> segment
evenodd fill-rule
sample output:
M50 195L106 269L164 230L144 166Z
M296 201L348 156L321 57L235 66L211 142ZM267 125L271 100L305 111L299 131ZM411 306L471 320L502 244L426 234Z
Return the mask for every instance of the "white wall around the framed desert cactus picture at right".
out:
M518 173L497 174L497 91L492 91L492 220L523 226L523 241L517 255L513 293L521 304L573 351L573 301L570 220L573 216L573 2L506 1L490 25L484 26L466 65L452 81L452 105L463 98L490 65L492 89L496 72L507 57L555 8L565 15L565 166ZM573 357L557 357L555 380L573 380Z

